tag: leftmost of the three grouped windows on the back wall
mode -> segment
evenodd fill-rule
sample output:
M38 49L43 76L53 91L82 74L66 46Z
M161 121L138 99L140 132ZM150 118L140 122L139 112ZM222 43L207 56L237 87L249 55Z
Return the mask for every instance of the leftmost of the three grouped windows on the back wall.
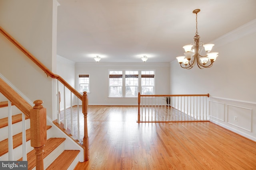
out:
M109 72L109 96L110 97L122 97L123 86L123 72L122 71L110 71Z

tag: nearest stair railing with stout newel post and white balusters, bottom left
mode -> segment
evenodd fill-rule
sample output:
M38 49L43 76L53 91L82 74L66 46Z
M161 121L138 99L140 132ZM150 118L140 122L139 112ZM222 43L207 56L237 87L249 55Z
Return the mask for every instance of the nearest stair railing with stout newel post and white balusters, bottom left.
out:
M8 99L8 154L9 160L13 160L12 143L12 104L22 111L22 160L26 160L26 128L25 116L30 118L30 144L36 151L36 170L44 170L44 145L46 137L46 109L42 106L42 100L36 100L32 107L22 96L11 88L2 78L0 78L0 93Z

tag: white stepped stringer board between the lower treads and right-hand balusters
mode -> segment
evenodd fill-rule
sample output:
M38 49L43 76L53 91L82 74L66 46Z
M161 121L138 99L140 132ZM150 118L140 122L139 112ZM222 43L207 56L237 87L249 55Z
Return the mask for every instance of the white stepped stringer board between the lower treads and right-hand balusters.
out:
M58 137L58 138L66 138L64 141L65 143L65 150L80 150L78 154L79 162L84 162L84 149L81 145L76 143L71 137L66 135L62 130L60 130L54 123L52 123L52 119L46 116L46 124L51 125L52 127L47 131L47 139L51 137Z

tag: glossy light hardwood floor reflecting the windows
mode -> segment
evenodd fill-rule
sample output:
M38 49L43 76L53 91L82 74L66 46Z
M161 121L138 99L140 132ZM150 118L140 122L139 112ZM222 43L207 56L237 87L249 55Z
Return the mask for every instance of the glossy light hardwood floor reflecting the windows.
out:
M90 159L75 169L256 169L254 141L210 122L136 123L137 109L89 106Z

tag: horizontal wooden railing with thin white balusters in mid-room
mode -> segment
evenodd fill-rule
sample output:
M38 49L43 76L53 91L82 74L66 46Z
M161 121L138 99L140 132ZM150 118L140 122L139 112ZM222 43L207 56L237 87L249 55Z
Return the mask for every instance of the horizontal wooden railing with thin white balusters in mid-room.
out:
M141 95L138 123L208 121L209 94Z

